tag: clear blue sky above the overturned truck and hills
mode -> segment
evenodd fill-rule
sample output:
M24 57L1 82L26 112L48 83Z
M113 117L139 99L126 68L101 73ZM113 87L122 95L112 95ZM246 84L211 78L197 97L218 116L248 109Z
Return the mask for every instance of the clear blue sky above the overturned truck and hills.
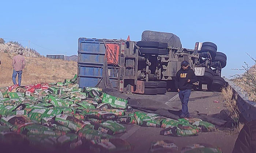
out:
M185 48L194 48L195 42L217 44L218 51L227 55L222 76L229 76L239 73L230 69L241 68L244 61L253 64L245 52L256 57L255 7L254 1L234 0L5 0L1 1L0 38L30 40L30 47L43 55L73 55L79 37L126 39L130 35L138 41L144 30L171 32Z

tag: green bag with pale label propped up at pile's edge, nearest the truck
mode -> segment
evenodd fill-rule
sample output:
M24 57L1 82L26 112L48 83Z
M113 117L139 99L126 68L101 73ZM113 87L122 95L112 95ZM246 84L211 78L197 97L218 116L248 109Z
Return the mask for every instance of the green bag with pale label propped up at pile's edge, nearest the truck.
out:
M109 103L113 108L116 109L127 109L127 99L114 97L112 95L103 93L102 103Z

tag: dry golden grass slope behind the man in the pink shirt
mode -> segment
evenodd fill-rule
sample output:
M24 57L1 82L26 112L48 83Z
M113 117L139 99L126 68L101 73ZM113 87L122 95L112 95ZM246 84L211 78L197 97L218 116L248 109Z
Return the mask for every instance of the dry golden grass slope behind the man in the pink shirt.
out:
M17 54L0 52L0 87L12 85L11 62L15 55ZM22 73L22 86L41 82L62 82L66 78L73 78L77 73L77 63L74 61L33 57L25 57L25 59L26 67Z

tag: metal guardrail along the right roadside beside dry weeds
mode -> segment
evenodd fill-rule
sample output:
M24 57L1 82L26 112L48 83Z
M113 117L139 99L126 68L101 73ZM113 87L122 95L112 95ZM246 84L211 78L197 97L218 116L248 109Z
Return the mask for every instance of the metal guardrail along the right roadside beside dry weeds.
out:
M236 96L236 94L238 96L237 106L242 115L240 116L241 122L249 122L256 119L256 102L250 101L248 99L248 94L245 91L242 91L240 87L235 85L233 81L227 78L224 79L233 89L233 98Z

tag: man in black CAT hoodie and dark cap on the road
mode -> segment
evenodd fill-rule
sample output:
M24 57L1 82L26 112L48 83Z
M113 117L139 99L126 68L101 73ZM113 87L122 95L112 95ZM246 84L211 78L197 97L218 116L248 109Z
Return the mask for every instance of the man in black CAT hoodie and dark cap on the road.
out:
M180 118L189 118L188 101L192 89L192 83L197 81L195 72L188 65L187 61L181 62L181 68L178 70L175 78L175 87L178 91L182 104L182 113Z

